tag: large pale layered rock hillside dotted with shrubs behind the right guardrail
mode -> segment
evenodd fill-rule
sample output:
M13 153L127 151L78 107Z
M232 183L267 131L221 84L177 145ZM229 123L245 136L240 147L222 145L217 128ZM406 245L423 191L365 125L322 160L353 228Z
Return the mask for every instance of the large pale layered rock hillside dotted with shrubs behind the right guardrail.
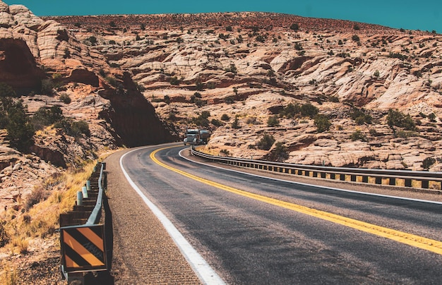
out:
M261 143L267 134L282 142L277 158L287 162L441 169L436 31L275 13L56 20L131 73L181 135L187 126L210 128L206 149L215 154L274 159L277 144ZM283 116L289 103L312 104L330 127L318 132L314 116ZM389 109L415 127L388 126Z

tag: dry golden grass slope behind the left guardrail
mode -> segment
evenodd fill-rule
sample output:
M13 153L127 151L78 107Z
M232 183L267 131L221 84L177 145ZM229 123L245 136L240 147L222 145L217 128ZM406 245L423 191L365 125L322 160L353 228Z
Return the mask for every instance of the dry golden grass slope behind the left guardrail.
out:
M10 249L11 256L17 253L32 256L32 251L29 251L30 241L34 238L49 238L55 234L55 229L59 227L59 215L73 209L77 190L88 180L96 164L96 160L82 162L80 167L47 178L42 185L35 187L35 200L30 203L29 200L22 201L20 211L11 207L3 212L1 232L7 237L2 244L4 250ZM41 195L42 191L47 195ZM0 268L0 284L20 284L16 272L18 265L0 260Z

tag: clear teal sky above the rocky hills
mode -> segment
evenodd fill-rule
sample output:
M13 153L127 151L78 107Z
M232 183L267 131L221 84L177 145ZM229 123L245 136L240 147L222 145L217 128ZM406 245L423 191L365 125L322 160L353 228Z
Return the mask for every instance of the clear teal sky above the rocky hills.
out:
M411 0L4 0L23 4L37 16L265 11L335 18L407 30L442 33L442 1Z

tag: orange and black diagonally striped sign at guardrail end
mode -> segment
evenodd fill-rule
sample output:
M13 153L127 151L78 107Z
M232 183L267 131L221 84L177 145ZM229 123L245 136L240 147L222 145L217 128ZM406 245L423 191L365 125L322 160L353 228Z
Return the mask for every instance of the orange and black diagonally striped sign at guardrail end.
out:
M66 226L60 229L61 260L66 272L105 270L104 226Z

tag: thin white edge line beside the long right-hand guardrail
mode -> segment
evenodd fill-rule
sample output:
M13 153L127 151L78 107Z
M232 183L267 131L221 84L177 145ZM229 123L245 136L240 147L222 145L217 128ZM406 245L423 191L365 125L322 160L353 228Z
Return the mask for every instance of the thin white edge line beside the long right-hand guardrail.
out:
M347 193L357 193L357 194L362 194L362 195L371 195L371 196L377 196L377 197L383 197L383 198L392 198L392 199L398 199L398 200L407 200L407 201L413 201L413 202L424 202L424 203L442 205L442 202L437 202L437 201L412 199L412 198L405 198L405 197L398 197L398 196L391 196L391 195L383 195L383 194L376 194L376 193L367 193L367 192L360 192L360 191L355 191L355 190L346 190L346 189L326 187L326 186L319 186L319 185L308 184L308 183L288 181L288 180L284 180L284 179L272 178L272 177L267 177L267 176L261 176L261 175L257 175L257 174L250 174L250 173L243 172L243 171L227 169L227 168L224 168L224 167L214 166L214 165L211 165L211 164L205 164L203 162L196 162L196 161L191 160L191 159L189 159L187 157L184 157L181 154L181 152L183 152L184 150L189 150L189 149L184 148L183 150L180 150L180 152L179 152L179 156L180 157L188 160L189 162L193 162L193 163L196 163L196 164L202 164L202 165L205 165L205 166L210 166L210 167L213 167L213 168L216 168L216 169L223 169L223 170L227 170L227 171L237 172L237 173L240 173L240 174L246 174L246 175L249 175L249 176L265 178L265 179L274 180L274 181L280 181L280 182L287 182L287 183L292 183L292 184L298 184L298 185L302 185L302 186L313 186L313 187L318 187L318 188L323 188L323 189L328 189L328 190L341 191L341 192L347 192Z

